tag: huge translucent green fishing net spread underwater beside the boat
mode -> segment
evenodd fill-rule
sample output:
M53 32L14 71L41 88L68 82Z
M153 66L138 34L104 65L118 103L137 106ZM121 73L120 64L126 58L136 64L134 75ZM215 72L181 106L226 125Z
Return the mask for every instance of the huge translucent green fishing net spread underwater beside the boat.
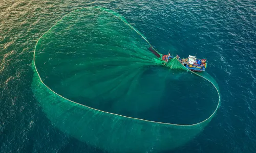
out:
M181 146L220 104L207 73L190 72L176 58L164 64L121 15L99 7L75 10L54 24L37 41L33 69L32 89L47 117L110 152Z

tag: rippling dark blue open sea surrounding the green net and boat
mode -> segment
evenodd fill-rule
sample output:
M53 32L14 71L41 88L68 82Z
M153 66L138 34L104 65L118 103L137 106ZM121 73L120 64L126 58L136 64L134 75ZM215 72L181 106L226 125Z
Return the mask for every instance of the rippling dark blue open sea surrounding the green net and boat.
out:
M255 2L0 1L1 152L106 152L55 127L31 89L37 40L64 15L89 6L124 16L162 54L207 58L221 107L203 132L167 152L256 151Z

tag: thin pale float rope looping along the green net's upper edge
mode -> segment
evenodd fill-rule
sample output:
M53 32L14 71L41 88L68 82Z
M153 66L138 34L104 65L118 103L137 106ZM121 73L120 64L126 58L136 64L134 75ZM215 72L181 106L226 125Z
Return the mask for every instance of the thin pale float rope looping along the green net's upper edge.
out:
M91 7L84 7L84 8L91 8ZM83 8L79 8L79 9L83 9ZM76 10L79 10L79 9L75 9L75 10L71 11L70 13L72 13L72 12L74 12L74 11L76 11ZM102 10L102 9L100 9L100 8L95 8L95 9L99 9L99 10L101 10L101 11L107 12L107 11ZM203 120L203 121L201 121L201 122L199 122L199 123L195 123L195 124L173 124L173 123L164 123L164 122L157 122L157 121L145 120L145 119L140 119L140 118L134 118L134 117L129 117L129 116L123 116L123 115L119 115L119 114L115 114L115 113L105 112L105 111L101 111L101 110L98 110L98 109L94 109L94 108L88 107L88 106L86 106L86 105L82 105L82 104L76 103L75 101L72 101L72 100L70 100L70 99L68 99L68 98L65 98L65 97L63 97L62 95L59 95L58 93L56 93L55 91L53 91L52 89L50 89L50 87L48 87L48 86L42 81L42 79L41 79L41 77L40 77L40 75L39 75L39 72L38 72L38 70L37 70L37 68L36 68L36 64L35 64L35 50L36 50L36 46L37 46L38 41L39 41L48 31L50 31L62 18L66 17L66 16L69 15L70 13L68 13L68 14L66 14L65 16L61 17L54 25L52 25L52 27L51 27L49 30L47 30L47 31L37 40L36 45L35 45L34 57L33 57L34 67L35 67L36 73L37 73L37 75L38 75L38 77L39 77L39 79L40 79L40 82L41 82L43 85L45 85L50 91L52 91L53 93L55 93L55 94L58 95L59 97L64 98L64 99L66 99L66 100L68 100L68 101L70 101L70 102L72 102L72 103L74 103L74 104L77 104L77 105L80 105L80 106L83 106L83 107L87 107L87 108L92 109L92 110L95 110L95 111L99 111L99 112L107 113L107 114L112 114L112 115L116 115L116 116L120 116L120 117L124 117L124 118L136 119L136 120L141 120L141 121L146 121L146 122L153 122L153 123L159 123L159 124L176 125L176 126L195 126L195 125L199 125L199 124L201 124L201 123L207 121L208 119L211 118L211 116L213 116L213 115L216 113L216 111L218 110L219 105L220 105L220 93L219 93L219 90L218 90L217 87L216 87L212 82L210 82L208 79L202 77L201 75L199 75L199 74L197 74L197 73L195 73L195 72L193 72L193 71L191 71L191 72L193 72L193 73L199 75L200 77L206 79L207 81L209 81L209 82L215 87L215 89L217 90L218 95L219 95L218 106L217 106L216 110L214 111L214 113L212 113L207 119L205 119L205 120ZM109 13L109 12L107 12L107 13ZM109 13L109 14L111 14L111 13ZM114 15L114 14L112 14L112 15ZM116 16L116 15L114 15L114 16ZM120 20L122 20L120 17L118 17L118 16L116 16L116 17L119 18ZM123 20L122 20L122 21L123 21ZM126 23L125 21L123 21L123 22L124 22L125 24L129 25L129 27L131 27L134 31L137 32L137 30L135 30L135 29L132 27L132 25ZM146 40L146 38L144 38L139 32L137 32L137 33L138 33L148 44L150 44L150 43ZM151 45L151 44L150 44L150 45ZM152 45L151 45L151 46L152 46ZM153 47L153 46L152 46L152 47ZM176 59L176 60L177 60L177 59ZM184 66L184 65L182 65L182 66ZM184 67L185 67L185 66L184 66ZM185 68L186 68L186 67L185 67ZM187 68L186 68L186 69L187 69ZM189 70L189 69L188 69L188 70ZM190 70L189 70L189 71L190 71Z

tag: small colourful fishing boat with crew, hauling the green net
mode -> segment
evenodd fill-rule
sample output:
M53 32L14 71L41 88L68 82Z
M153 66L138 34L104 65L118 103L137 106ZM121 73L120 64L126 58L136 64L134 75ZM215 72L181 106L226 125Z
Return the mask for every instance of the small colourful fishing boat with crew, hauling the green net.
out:
M205 68L207 67L206 59L198 59L196 56L189 55L188 58L181 59L178 55L176 56L177 60L184 65L187 69L191 71L205 71ZM162 60L164 62L169 62L171 59L175 58L171 55L162 55Z

